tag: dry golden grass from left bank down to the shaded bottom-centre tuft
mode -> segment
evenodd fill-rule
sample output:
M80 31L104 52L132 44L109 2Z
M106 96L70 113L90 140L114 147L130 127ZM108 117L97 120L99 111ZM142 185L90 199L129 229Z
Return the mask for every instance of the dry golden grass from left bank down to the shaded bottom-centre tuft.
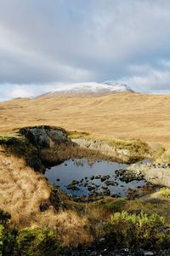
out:
M41 174L26 166L24 160L7 155L0 147L0 208L11 213L11 224L19 229L49 227L70 247L92 241L88 219L78 215L73 204L72 210L57 212L50 205L51 192ZM61 194L56 195L60 199L55 197L54 200L68 200ZM45 212L40 211L42 204L48 205Z

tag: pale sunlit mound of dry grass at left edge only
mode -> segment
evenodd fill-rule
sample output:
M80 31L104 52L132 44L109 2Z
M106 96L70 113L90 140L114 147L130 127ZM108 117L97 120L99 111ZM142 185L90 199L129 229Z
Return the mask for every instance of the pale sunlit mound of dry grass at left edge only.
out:
M29 224L49 195L48 184L40 174L0 148L0 207L12 213L14 224Z

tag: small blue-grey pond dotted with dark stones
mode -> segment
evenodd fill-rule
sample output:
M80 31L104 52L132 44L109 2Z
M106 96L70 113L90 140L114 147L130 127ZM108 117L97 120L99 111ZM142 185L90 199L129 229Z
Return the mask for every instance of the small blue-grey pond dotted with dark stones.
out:
M59 186L71 195L117 195L126 196L128 189L143 187L143 178L125 182L118 175L127 168L127 164L108 161L65 160L58 166L51 167L45 172L48 182Z

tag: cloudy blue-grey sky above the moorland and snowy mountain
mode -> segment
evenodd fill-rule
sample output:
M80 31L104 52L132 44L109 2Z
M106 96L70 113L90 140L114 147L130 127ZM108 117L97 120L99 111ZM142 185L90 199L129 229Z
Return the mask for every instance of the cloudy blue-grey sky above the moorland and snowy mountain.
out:
M113 80L170 93L169 0L0 0L0 99Z

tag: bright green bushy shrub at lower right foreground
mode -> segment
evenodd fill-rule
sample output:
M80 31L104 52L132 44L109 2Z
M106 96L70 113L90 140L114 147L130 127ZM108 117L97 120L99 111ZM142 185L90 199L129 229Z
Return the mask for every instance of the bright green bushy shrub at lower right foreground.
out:
M107 239L125 247L169 247L170 234L165 221L156 213L116 212L105 225Z

